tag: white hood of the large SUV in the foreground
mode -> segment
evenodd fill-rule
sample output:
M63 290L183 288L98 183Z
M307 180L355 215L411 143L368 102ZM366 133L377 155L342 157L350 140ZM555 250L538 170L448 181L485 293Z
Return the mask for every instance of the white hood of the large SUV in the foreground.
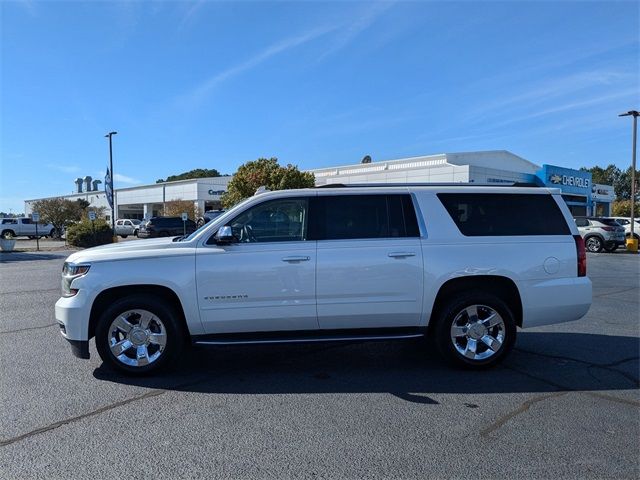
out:
M70 255L67 258L67 262L91 263L130 258L184 255L194 252L195 248L189 243L174 242L171 238L152 238L87 248Z

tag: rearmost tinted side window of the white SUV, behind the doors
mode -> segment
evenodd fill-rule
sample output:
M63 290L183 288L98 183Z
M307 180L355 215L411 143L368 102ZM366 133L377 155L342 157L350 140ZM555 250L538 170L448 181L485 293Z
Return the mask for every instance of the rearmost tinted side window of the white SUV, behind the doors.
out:
M438 198L468 237L571 233L551 195L439 193Z

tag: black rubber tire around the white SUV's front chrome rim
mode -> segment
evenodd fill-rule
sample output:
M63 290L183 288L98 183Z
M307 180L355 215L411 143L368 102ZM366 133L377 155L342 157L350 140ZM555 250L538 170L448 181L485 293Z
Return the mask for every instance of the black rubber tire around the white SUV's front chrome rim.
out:
M162 322L166 332L164 350L157 359L147 365L127 365L119 360L110 348L110 329L112 322L131 310L146 310L150 312ZM135 315L129 315L128 319L130 319L134 326L137 326L135 324ZM122 336L126 335L122 334ZM116 300L100 315L96 325L95 338L98 354L107 366L128 375L147 375L162 370L177 358L184 348L186 332L179 320L179 313L176 312L172 305L156 295L133 294ZM133 356L133 348L135 347L132 346L130 350L127 350L123 354L125 356Z

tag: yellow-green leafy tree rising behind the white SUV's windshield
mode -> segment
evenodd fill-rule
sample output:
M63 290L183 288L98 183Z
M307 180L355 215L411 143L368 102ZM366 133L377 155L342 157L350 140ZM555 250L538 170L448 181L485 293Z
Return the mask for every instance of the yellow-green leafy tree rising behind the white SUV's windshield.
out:
M259 158L238 168L227 191L222 195L222 204L225 208L232 207L254 195L262 186L269 190L311 188L315 186L315 176L313 173L301 172L291 164L282 167L277 158Z

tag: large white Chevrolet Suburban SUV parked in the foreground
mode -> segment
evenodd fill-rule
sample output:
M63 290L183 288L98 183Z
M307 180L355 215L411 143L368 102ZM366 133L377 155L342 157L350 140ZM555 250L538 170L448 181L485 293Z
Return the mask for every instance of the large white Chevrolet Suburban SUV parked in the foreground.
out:
M125 267L125 268L123 268ZM516 327L581 318L584 242L558 190L362 186L256 195L185 238L83 250L62 272L62 335L132 374L187 343L429 336L500 361Z

